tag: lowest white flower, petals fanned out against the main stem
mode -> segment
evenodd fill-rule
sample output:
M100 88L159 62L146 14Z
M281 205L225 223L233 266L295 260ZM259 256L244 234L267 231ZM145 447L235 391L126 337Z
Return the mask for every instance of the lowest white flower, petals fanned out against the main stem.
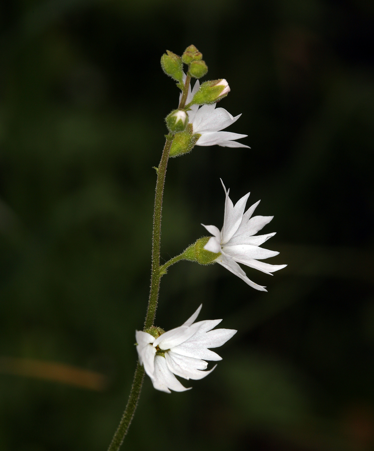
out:
M208 348L217 348L229 340L236 330L216 329L222 320L206 320L194 323L200 307L182 326L162 333L158 338L148 332L136 331L139 362L144 365L145 372L151 378L157 390L170 393L170 390L185 391L185 388L174 376L184 379L202 379L212 372L203 371L208 364L205 360L222 360ZM155 328L157 330L157 328Z

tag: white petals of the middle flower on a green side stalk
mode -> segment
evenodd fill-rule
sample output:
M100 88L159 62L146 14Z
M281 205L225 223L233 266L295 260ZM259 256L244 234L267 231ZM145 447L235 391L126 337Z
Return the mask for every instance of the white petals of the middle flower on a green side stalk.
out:
M236 276L243 279L251 287L260 291L267 291L265 287L257 285L248 279L245 272L240 268L238 263L258 269L263 273L270 274L285 268L287 265L270 265L269 263L259 262L258 260L268 259L278 255L279 252L269 251L259 246L266 240L273 237L275 232L267 235L256 235L264 225L271 221L273 216L252 216L253 211L260 201L254 203L244 213L245 204L249 197L249 192L233 205L229 191L226 191L225 185L221 180L223 189L226 193L225 215L223 219L223 227L221 232L215 225L204 225L205 229L213 235L213 237L204 246L206 251L214 252L220 255L215 262L228 269Z

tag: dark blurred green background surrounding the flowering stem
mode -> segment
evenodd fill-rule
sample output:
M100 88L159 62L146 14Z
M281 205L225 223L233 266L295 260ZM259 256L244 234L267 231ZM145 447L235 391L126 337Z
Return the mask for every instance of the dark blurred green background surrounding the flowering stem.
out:
M374 6L368 0L0 4L0 449L103 450L148 299L155 171L178 90L166 49L203 53L251 149L170 161L162 261L221 227L222 177L274 219L268 293L218 265L162 280L156 323L238 333L191 391L147 378L124 449L374 449ZM251 202L251 203L249 203Z

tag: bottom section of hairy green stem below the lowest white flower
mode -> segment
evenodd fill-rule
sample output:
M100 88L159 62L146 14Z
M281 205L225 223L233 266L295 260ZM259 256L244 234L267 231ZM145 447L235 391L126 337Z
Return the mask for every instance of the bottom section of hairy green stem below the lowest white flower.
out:
M143 379L144 379L144 367L143 365L140 365L138 362L138 365L135 370L134 382L131 387L130 396L129 400L127 401L126 409L122 415L120 424L116 430L116 433L114 434L112 443L110 444L108 451L117 451L125 438L131 420L133 419L136 407L138 405Z

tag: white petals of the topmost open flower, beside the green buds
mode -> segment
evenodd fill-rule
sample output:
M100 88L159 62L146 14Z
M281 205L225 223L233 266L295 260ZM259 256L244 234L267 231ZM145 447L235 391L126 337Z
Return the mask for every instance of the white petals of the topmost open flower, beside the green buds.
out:
M224 89L225 94L230 91L226 80L222 80L220 84L226 86ZM191 86L189 87L186 104L192 101L199 88L199 80L196 81L192 91ZM187 111L188 123L192 124L193 134L198 133L201 135L195 145L213 146L217 144L222 147L248 147L245 144L234 141L235 139L245 138L248 135L220 131L237 121L241 114L233 117L224 108L216 108L215 103L202 105L200 108L199 105L192 105L190 108L191 110Z

